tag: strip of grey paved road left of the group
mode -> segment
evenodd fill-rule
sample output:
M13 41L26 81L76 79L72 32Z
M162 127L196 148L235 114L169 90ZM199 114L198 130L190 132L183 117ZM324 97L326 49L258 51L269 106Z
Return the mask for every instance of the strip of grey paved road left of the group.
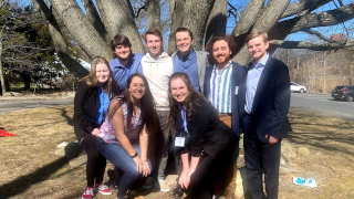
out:
M0 101L0 114L21 109L74 104L74 100Z

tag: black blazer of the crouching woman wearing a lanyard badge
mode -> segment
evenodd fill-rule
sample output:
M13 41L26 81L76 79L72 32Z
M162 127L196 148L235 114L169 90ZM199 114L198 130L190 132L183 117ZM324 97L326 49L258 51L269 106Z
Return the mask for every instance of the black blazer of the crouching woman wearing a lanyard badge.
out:
M204 150L211 158L217 158L227 147L238 140L238 136L219 119L218 113L208 100L200 98L197 102L195 101L194 108L195 113L190 117L186 113L187 128L190 136L189 138L185 136L185 147L176 147L177 153L190 153L191 156L199 157ZM183 124L180 111L176 112L176 136L178 136Z

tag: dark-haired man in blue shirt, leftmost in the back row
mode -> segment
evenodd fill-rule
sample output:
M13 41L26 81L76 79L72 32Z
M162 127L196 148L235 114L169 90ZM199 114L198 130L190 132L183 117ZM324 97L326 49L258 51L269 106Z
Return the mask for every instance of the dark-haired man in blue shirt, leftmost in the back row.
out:
M119 85L119 91L126 88L126 81L134 73L143 73L140 60L144 54L133 53L132 44L127 36L117 34L111 42L114 60L110 63L114 80Z

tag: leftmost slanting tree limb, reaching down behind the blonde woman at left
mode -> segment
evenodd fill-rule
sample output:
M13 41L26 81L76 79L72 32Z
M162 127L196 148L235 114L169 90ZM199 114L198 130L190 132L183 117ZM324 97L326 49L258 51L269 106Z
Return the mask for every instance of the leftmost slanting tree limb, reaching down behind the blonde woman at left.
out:
M70 56L70 51L66 46L65 40L60 31L60 27L54 15L49 10L43 0L32 0L37 10L41 11L41 14L49 21L49 32L52 36L53 45L56 50L58 56L66 69L77 77L84 77L88 71L83 67L76 60Z

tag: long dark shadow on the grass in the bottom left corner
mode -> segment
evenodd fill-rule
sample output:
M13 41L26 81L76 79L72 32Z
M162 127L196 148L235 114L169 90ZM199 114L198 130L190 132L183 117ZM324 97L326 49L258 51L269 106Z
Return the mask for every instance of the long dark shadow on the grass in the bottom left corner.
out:
M0 198L10 198L24 192L32 185L46 180L52 174L67 164L67 159L62 157L32 174L21 176L8 184L0 186Z

